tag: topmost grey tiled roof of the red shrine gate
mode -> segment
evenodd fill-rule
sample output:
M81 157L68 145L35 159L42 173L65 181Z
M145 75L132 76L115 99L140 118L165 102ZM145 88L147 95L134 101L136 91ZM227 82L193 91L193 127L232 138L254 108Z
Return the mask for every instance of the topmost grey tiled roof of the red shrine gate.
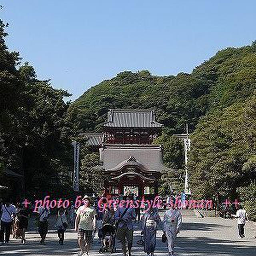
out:
M155 121L155 113L152 109L110 109L108 121L103 126L158 128L163 125Z

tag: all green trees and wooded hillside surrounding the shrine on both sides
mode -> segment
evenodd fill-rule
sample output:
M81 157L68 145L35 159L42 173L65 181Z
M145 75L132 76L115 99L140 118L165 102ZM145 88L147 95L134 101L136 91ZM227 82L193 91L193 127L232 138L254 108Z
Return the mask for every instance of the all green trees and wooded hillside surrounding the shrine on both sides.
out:
M183 145L172 135L188 123L193 195L240 193L247 204L254 202L250 214L256 216L256 42L221 50L191 74L121 72L70 104L64 102L68 92L20 64L18 52L6 46L4 28L0 21L0 176L4 168L24 174L28 194L68 192L73 136L100 131L108 108L154 108L164 124L155 143L164 144L164 163L172 169L163 175L161 193L169 192L170 183L179 189L184 184ZM81 163L82 190L98 188L92 184L94 176L100 180L93 169L98 155L84 148Z

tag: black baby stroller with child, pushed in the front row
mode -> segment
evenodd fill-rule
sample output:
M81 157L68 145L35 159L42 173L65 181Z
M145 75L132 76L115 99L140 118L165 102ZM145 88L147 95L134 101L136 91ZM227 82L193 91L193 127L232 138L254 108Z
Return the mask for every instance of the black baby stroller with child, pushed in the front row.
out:
M111 224L104 224L101 230L101 248L102 252L116 252L115 240L116 240L116 228Z

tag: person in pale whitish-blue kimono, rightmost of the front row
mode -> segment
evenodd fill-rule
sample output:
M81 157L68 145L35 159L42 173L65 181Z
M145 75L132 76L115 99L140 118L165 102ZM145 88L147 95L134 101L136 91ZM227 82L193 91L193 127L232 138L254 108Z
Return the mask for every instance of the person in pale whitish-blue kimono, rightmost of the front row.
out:
M174 242L182 223L181 213L173 206L164 213L163 230L167 238L169 256L174 255Z

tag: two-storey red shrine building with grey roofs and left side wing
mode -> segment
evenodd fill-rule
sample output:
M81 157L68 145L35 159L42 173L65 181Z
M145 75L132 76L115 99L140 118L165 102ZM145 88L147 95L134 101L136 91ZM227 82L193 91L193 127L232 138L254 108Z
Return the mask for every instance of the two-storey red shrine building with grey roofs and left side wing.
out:
M162 145L152 144L162 129L154 110L110 109L102 128L81 135L100 152L105 189L112 195L158 194L164 165Z

